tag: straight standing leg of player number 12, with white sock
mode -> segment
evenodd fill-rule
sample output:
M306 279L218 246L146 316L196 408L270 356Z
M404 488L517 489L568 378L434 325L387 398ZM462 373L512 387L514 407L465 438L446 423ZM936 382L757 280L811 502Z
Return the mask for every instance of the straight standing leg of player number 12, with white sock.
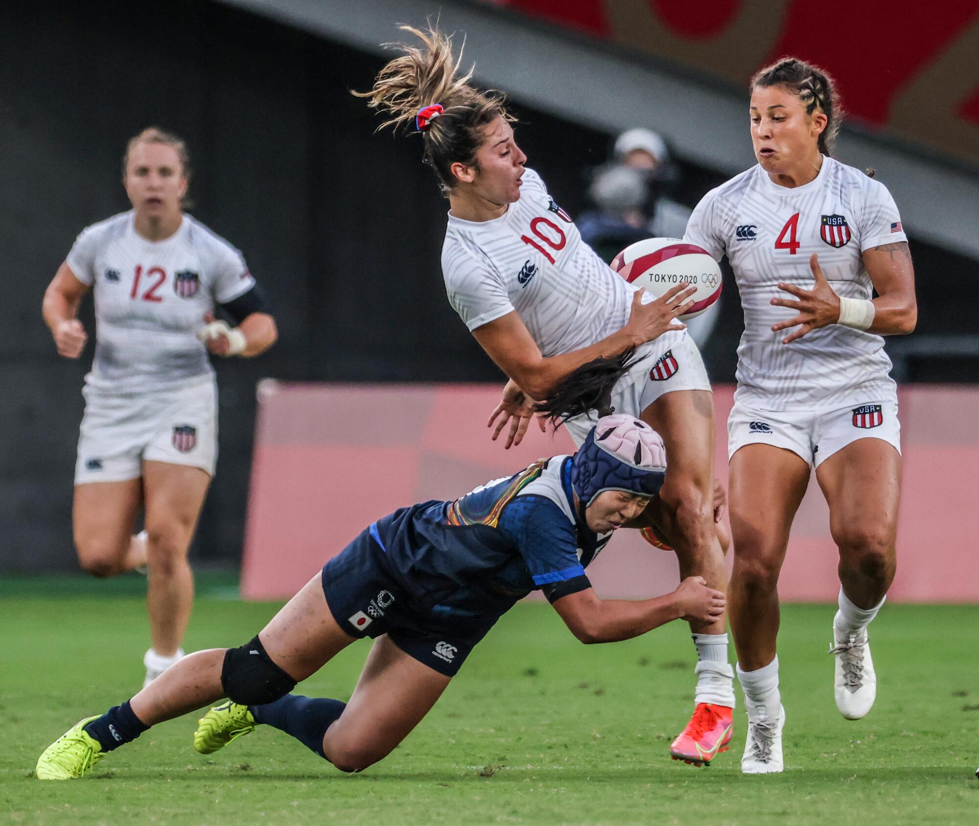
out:
M194 577L187 551L197 528L210 476L200 468L144 462L146 604L153 648L147 653L147 680L182 656L180 643L194 601Z

